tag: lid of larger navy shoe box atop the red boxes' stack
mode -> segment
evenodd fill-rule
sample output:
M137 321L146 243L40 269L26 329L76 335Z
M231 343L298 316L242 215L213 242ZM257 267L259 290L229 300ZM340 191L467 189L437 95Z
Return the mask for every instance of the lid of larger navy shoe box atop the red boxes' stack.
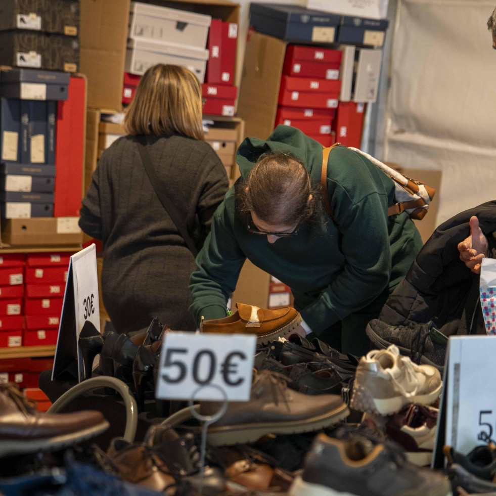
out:
M320 10L305 9L297 5L250 4L250 14L273 17L288 23L311 24L317 26L337 26L341 16Z

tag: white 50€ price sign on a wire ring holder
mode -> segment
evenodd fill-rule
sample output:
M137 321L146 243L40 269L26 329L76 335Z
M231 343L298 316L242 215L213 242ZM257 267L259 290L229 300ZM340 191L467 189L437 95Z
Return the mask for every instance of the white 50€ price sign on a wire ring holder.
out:
M156 397L230 401L250 398L255 335L168 332L160 352Z

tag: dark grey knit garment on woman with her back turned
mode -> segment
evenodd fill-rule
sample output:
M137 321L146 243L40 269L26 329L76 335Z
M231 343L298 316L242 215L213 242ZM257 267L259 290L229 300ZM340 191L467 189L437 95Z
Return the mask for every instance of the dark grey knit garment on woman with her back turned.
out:
M152 137L149 150L200 248L228 190L226 169L207 143L184 136ZM136 138L102 154L80 214L81 229L103 241L103 301L117 331L145 328L155 316L173 330L194 330L195 260L150 183Z

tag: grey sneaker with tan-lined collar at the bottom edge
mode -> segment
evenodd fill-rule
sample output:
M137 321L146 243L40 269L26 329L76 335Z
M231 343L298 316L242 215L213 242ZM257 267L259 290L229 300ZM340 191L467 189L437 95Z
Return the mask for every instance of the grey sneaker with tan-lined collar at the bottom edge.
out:
M449 481L430 469L407 462L392 444L355 436L350 441L319 434L303 473L289 496L450 496Z

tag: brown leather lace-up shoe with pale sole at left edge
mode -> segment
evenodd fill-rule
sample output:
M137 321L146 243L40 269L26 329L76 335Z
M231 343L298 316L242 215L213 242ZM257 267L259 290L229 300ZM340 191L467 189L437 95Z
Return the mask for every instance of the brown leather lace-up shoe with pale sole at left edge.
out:
M100 412L48 414L24 397L16 384L0 384L0 457L51 451L108 429Z

